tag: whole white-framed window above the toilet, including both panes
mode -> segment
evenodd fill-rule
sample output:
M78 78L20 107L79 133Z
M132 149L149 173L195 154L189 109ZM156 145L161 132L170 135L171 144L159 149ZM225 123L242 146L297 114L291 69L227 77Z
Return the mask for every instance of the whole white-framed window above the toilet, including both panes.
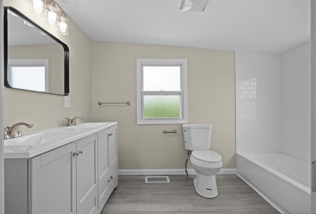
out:
M137 59L137 124L187 123L187 60Z

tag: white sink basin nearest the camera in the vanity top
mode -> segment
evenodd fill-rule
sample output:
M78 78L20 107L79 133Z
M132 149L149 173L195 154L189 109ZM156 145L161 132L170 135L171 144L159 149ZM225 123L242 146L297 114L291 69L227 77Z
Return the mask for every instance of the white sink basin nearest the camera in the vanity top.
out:
M4 146L36 146L63 138L71 138L78 135L80 131L73 132L43 132L4 140Z

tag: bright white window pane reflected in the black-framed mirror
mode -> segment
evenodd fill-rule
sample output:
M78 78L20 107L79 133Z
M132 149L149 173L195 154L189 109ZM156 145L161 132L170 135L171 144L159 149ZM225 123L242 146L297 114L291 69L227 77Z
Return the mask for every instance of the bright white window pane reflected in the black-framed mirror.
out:
M45 67L8 67L11 87L45 92Z

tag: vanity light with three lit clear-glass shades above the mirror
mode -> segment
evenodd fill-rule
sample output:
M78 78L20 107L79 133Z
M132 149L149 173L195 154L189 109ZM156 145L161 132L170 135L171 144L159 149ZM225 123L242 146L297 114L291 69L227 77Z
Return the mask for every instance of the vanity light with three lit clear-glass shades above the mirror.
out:
M57 27L62 35L69 34L69 19L67 14L54 0L30 0L31 12L47 16L45 23Z

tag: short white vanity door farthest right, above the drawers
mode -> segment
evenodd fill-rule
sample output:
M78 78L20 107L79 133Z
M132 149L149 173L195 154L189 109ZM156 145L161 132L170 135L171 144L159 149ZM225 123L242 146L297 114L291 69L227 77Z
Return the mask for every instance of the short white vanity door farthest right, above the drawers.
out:
M110 127L109 133L109 161L110 170L115 167L118 161L118 126L114 125Z

